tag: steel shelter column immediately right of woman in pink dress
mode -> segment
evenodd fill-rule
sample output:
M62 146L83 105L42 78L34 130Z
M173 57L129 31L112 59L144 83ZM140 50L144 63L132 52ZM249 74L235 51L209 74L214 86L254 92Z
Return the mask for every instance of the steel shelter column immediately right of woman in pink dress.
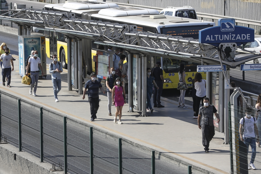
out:
M129 112L133 112L133 69L132 69L132 54L128 52L128 93L129 93ZM132 110L130 111L130 108Z

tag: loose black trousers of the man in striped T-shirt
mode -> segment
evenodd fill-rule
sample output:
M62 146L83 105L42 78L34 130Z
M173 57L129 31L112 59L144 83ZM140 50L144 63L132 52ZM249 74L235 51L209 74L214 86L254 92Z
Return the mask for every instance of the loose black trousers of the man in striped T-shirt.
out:
M202 130L202 144L205 147L205 151L209 150L209 142L212 140L215 135L215 127L214 125L201 125Z

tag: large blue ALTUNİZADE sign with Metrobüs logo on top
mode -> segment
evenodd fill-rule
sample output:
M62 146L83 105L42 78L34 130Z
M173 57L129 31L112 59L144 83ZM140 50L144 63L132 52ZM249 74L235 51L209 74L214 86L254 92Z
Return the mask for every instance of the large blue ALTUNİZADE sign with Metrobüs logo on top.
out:
M218 26L199 31L199 43L219 46L220 43L241 45L254 41L254 29L235 25L235 19L219 19Z

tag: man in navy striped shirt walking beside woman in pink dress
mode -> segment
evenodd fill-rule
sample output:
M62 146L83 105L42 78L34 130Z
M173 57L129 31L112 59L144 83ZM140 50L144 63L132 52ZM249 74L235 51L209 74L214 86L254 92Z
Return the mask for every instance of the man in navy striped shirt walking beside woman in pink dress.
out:
M96 113L99 109L99 88L105 94L102 84L96 80L96 73L91 73L91 80L85 83L82 99L85 99L85 94L88 89L88 99L91 106L91 121L97 118Z

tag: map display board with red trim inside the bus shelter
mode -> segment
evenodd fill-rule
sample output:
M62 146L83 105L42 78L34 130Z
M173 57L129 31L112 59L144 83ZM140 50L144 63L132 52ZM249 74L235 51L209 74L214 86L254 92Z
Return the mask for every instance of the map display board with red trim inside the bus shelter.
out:
M106 79L109 76L110 53L97 51L97 77Z

